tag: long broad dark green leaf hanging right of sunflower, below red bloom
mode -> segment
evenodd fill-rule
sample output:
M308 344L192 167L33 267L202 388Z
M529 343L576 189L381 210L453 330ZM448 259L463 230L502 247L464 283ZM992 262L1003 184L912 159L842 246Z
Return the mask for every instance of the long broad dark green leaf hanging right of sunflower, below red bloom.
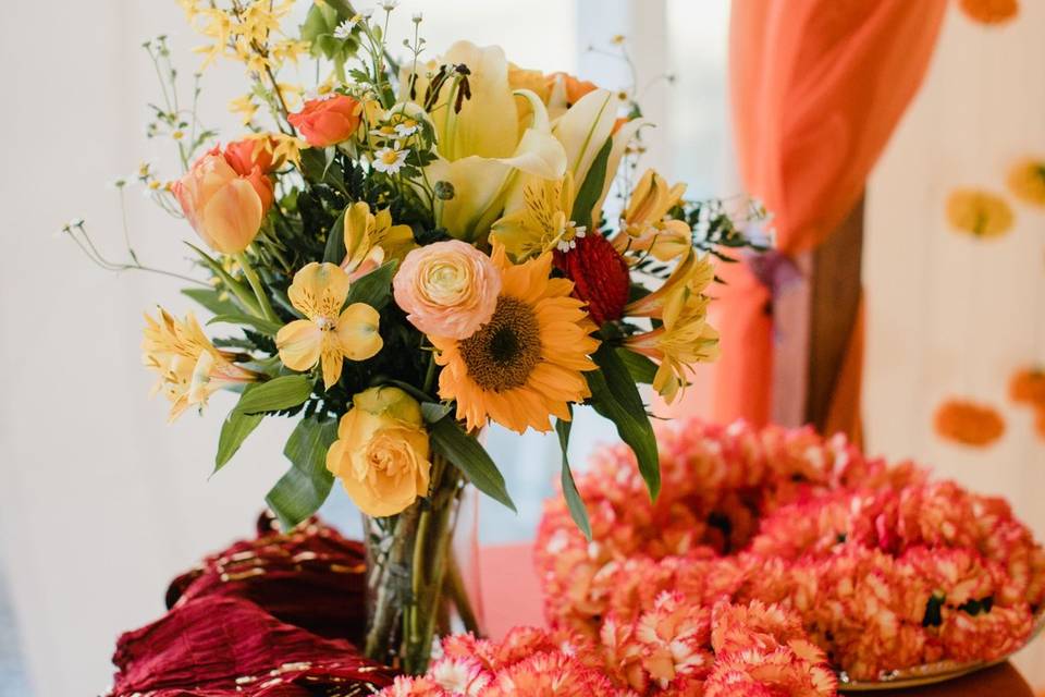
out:
M591 405L613 421L620 440L635 452L650 498L656 500L661 491L661 463L653 426L639 395L639 388L616 350L607 343L599 346L592 358L601 369L585 374L591 390Z

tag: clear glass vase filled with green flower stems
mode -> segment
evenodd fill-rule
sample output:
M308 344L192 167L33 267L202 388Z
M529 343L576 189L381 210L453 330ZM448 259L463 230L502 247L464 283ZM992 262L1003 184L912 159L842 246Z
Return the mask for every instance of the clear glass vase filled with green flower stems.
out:
M441 455L432 457L431 489L398 515L364 516L367 548L369 658L419 675L433 639L481 634L475 566L475 490Z

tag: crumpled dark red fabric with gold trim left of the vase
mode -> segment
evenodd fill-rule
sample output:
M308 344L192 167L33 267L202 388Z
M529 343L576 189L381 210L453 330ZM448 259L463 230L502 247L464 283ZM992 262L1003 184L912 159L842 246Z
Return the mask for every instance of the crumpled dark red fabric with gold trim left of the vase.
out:
M111 695L376 692L392 672L347 640L364 631L365 576L359 542L315 519L286 535L262 519L256 539L177 577L167 615L120 637Z

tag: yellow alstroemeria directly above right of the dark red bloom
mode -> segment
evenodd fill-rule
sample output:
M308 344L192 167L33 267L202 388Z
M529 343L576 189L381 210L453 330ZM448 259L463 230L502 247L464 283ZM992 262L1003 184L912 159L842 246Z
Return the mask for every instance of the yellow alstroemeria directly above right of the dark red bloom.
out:
M667 217L683 199L685 184L668 186L663 176L647 170L631 192L613 245L626 250L647 252L661 261L671 261L692 248L692 230L685 220Z

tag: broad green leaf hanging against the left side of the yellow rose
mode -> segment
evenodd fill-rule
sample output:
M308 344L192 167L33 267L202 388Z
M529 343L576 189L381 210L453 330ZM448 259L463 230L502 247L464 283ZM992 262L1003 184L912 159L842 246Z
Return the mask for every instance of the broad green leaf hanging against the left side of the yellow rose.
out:
M330 494L334 477L327 469L327 451L336 439L337 421L315 416L298 421L287 439L283 454L291 468L265 497L284 530L316 513Z

